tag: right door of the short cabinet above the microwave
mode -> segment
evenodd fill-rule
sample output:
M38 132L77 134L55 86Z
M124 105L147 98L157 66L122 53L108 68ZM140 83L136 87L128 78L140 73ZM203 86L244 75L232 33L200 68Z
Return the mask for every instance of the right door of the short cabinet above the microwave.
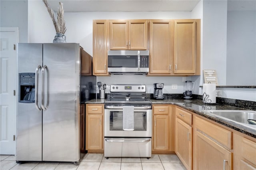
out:
M146 20L129 20L128 31L129 49L147 49L148 34Z

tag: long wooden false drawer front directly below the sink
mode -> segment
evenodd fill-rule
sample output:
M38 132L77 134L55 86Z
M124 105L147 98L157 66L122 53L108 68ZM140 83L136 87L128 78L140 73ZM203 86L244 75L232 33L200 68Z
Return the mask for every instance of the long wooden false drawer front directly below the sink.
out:
M226 148L232 149L231 131L214 125L213 123L205 121L204 119L200 119L199 117L195 117L194 125L198 130L212 137L215 141L219 142L223 146L226 146Z

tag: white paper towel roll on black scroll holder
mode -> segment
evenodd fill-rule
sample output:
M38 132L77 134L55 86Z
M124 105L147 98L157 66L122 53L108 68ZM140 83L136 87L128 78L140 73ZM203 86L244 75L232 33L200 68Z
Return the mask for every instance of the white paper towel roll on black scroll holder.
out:
M216 83L203 84L203 103L216 103Z

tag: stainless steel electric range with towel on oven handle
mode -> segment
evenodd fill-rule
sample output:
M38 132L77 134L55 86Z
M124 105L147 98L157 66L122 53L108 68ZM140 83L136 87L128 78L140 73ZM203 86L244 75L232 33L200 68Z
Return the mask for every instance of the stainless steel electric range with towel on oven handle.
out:
M105 101L104 156L151 157L152 103L146 85L110 85Z

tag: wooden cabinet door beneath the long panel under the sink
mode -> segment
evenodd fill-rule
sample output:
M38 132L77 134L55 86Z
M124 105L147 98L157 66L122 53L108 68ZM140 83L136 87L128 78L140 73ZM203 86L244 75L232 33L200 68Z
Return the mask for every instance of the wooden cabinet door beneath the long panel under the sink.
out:
M195 130L194 168L197 170L231 170L232 152Z

